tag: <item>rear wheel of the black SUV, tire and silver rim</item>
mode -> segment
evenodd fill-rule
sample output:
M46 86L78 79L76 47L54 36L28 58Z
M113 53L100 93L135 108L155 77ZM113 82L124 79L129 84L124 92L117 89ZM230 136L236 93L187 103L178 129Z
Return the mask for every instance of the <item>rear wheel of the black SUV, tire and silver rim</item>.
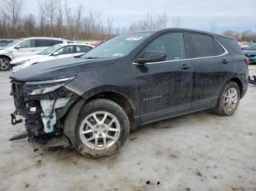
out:
M236 96L232 93L235 93ZM230 95L231 98L228 98ZM214 113L221 116L230 116L234 114L238 108L240 98L241 92L238 84L236 82L228 82L222 90L222 94L219 97L218 105L214 109Z

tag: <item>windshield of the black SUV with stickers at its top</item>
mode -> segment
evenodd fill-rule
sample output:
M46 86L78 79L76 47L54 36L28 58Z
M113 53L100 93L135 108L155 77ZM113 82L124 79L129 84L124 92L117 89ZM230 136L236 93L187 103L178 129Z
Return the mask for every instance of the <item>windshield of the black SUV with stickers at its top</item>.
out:
M132 52L152 33L132 33L116 36L90 50L82 58L121 58Z

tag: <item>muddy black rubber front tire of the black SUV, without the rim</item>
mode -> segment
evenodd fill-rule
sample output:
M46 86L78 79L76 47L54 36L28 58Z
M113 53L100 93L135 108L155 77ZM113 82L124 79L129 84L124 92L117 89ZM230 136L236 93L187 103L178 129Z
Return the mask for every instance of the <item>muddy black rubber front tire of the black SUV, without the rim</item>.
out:
M117 141L110 147L105 149L92 149L84 144L80 136L80 126L86 117L89 117L94 112L108 112L118 120L120 124L120 131ZM83 127L83 125L82 125ZM108 134L108 133L107 133ZM75 149L86 157L108 157L118 152L124 145L129 135L129 119L124 109L118 104L108 99L95 99L85 104L78 115L78 122L75 128Z

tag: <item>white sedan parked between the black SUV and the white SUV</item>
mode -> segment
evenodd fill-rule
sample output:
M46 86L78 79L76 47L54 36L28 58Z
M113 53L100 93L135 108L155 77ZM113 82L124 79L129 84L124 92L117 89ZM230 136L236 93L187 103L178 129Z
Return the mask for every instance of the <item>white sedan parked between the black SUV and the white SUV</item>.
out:
M52 61L59 58L80 56L93 48L94 46L91 46L89 44L56 44L52 47L48 47L42 52L39 52L37 55L15 58L10 62L10 64L12 67L12 72L16 72L20 69L25 69L26 67L29 67L35 63Z

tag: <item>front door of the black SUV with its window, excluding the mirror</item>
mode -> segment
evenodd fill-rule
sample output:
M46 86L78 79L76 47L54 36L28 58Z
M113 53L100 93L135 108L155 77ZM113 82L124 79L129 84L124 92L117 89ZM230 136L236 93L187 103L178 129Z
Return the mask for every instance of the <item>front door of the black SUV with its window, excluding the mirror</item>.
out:
M142 124L189 112L193 69L191 61L184 60L184 34L162 34L154 39L138 58L150 55L147 52L166 52L167 58L166 61L136 64Z

